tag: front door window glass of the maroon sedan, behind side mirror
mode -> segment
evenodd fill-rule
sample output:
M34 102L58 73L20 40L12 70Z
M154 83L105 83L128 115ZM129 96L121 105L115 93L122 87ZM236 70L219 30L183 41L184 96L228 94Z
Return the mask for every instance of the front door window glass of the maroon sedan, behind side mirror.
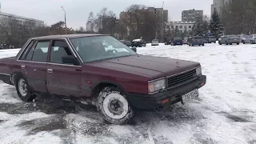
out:
M72 53L66 41L55 40L52 42L51 51L50 51L50 62L64 64L64 62L62 61L62 57L69 56L69 55L72 55ZM70 65L74 65L74 64L70 64Z

